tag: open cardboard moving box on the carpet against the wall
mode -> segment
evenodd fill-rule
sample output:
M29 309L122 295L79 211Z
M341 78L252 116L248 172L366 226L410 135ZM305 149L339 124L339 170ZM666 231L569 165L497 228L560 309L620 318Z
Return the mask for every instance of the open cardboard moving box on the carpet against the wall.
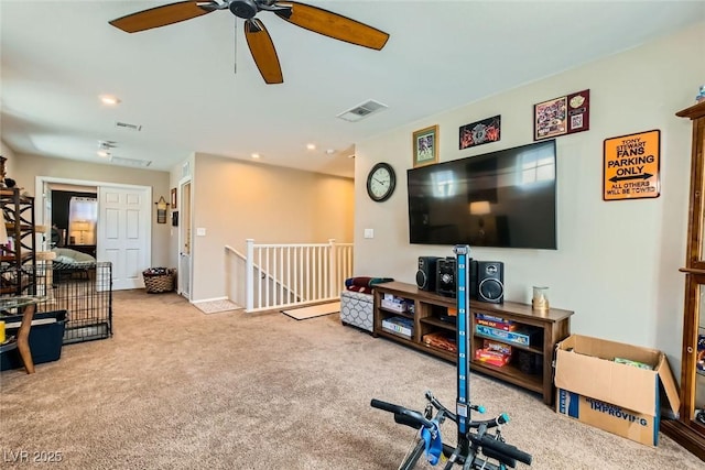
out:
M555 386L557 413L648 446L659 444L661 397L673 414L681 406L663 352L581 335L556 345Z

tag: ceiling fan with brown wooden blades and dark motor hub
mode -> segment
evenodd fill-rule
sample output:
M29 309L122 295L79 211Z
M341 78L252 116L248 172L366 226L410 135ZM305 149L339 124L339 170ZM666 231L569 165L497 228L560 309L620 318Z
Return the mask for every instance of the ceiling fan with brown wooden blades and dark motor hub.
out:
M337 13L294 1L276 0L188 0L139 11L112 20L109 23L128 32L151 30L191 20L216 10L230 10L245 20L245 37L257 68L267 84L284 81L274 43L264 24L254 18L260 11L269 11L297 26L347 43L381 50L389 34Z

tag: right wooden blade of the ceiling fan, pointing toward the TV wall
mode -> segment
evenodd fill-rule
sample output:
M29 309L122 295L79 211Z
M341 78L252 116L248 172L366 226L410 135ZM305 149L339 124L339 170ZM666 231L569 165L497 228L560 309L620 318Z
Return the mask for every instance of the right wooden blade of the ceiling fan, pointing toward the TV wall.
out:
M381 50L387 44L389 34L359 21L350 20L338 13L294 1L282 1L276 7L291 6L291 10L274 11L278 17L297 26L324 36L345 41L373 50Z

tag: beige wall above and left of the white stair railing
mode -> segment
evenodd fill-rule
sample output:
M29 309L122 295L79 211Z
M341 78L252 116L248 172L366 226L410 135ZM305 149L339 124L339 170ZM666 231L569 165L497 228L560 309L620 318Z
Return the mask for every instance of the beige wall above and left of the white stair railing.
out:
M352 241L349 178L196 154L192 300L227 296L225 245ZM176 237L176 234L174 234Z

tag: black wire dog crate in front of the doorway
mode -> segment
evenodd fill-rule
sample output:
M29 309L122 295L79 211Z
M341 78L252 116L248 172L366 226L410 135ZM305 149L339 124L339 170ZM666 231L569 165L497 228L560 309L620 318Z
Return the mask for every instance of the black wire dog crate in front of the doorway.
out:
M112 264L47 263L36 267L36 311L66 310L64 345L112 336Z

